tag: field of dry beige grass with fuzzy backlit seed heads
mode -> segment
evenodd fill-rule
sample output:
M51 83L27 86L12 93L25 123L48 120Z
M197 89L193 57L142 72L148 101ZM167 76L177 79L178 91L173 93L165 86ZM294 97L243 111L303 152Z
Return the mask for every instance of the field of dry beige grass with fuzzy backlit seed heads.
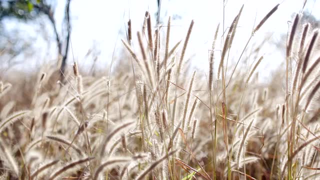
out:
M56 64L44 65L26 83L2 78L1 178L319 178L318 31L295 16L285 66L268 83L256 72L265 49L247 49L278 7L253 27L235 65L227 62L243 6L221 57L214 53L223 31L217 25L203 76L184 59L196 22L185 29L180 47L169 39L170 18L166 27L154 28L146 12L136 33L139 47L132 46L129 19L122 39L127 56L108 76L85 75L74 61L62 79Z

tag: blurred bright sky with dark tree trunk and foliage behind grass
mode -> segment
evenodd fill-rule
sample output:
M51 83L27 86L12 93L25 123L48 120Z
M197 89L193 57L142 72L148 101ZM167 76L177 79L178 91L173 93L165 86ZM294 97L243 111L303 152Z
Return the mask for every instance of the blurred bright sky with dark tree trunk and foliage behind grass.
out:
M134 45L137 43L136 31L141 30L145 11L150 12L153 26L163 25L161 39L165 37L165 25L171 16L172 46L184 39L191 19L194 19L185 57L204 73L218 24L217 55L223 45L223 32L244 4L229 55L231 61L236 61L253 26L277 3L280 3L279 9L249 44L250 47L259 46L260 55L266 59L258 69L262 76L268 76L284 62L287 30L295 12L302 12L304 20L313 22L313 28L318 26L320 12L316 9L320 9L319 1L0 0L0 75L5 76L10 70L34 71L43 63L56 61L59 54L65 68L70 68L75 59L87 73L106 69L112 58L119 61L126 53L120 40L126 39L129 19L133 48L138 47Z

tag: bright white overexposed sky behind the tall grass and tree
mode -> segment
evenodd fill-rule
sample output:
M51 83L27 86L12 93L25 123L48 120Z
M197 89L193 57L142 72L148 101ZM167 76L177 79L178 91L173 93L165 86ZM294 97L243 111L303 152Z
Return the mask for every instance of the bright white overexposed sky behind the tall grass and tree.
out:
M266 21L260 30L254 35L250 44L258 43L262 39L272 36L269 41L281 40L280 35L288 30L288 21L292 20L292 13L301 10L304 0L226 0L224 2L223 18L223 0L162 0L160 9L160 21L166 25L167 19L171 16L171 34L169 46L172 47L178 40L184 40L190 21L194 20L194 26L187 46L185 58L191 57L191 64L194 68L207 71L208 50L214 36L217 24L220 24L218 39L216 44L216 56L222 49L221 42L222 32L230 25L231 21L238 13L242 4L243 11L238 23L237 32L234 37L234 44L230 52L230 59L237 59L242 51L247 39L249 38L252 28L264 15L280 3L278 10ZM86 57L88 49L94 49L98 53L97 64L99 66L109 66L112 58L113 49L117 49L116 57L120 57L120 51L123 45L120 39L126 39L125 29L126 22L131 19L133 48L138 47L136 44L136 31L141 30L144 13L148 10L153 19L152 25L155 24L155 12L157 11L156 0L71 0L70 2L70 19L71 19L71 44L74 58L79 65L90 65L92 59ZM312 15L320 18L320 2L307 0L305 9L311 11ZM55 8L55 18L58 29L61 28L61 19L63 19L64 2L58 1ZM223 20L224 19L224 20ZM223 23L224 21L224 23ZM11 24L10 24L11 23ZM16 28L13 22L7 22L9 28ZM32 25L27 31L32 31ZM50 27L47 27L49 29ZM162 38L165 37L166 28L160 31ZM32 34L30 32L30 34ZM36 33L35 33L36 34ZM49 33L52 43L54 43L53 34ZM162 40L164 41L164 40ZM54 59L56 55L56 46L53 45L47 50L43 47L43 42L35 42L39 48L44 48L42 58ZM53 49L53 50L52 50ZM45 52L45 51L49 52ZM138 48L135 48L137 52ZM283 59L283 51L280 51L274 44L269 43L263 46L260 55L264 55L261 62L262 73L267 75L269 70ZM72 62L71 51L68 62ZM49 58L48 58L49 57ZM219 58L217 58L219 59ZM115 59L116 60L116 59ZM252 59L254 60L254 59ZM215 63L216 65L218 62ZM267 68L266 68L267 67ZM258 69L259 70L259 69ZM264 72L263 72L264 70Z

